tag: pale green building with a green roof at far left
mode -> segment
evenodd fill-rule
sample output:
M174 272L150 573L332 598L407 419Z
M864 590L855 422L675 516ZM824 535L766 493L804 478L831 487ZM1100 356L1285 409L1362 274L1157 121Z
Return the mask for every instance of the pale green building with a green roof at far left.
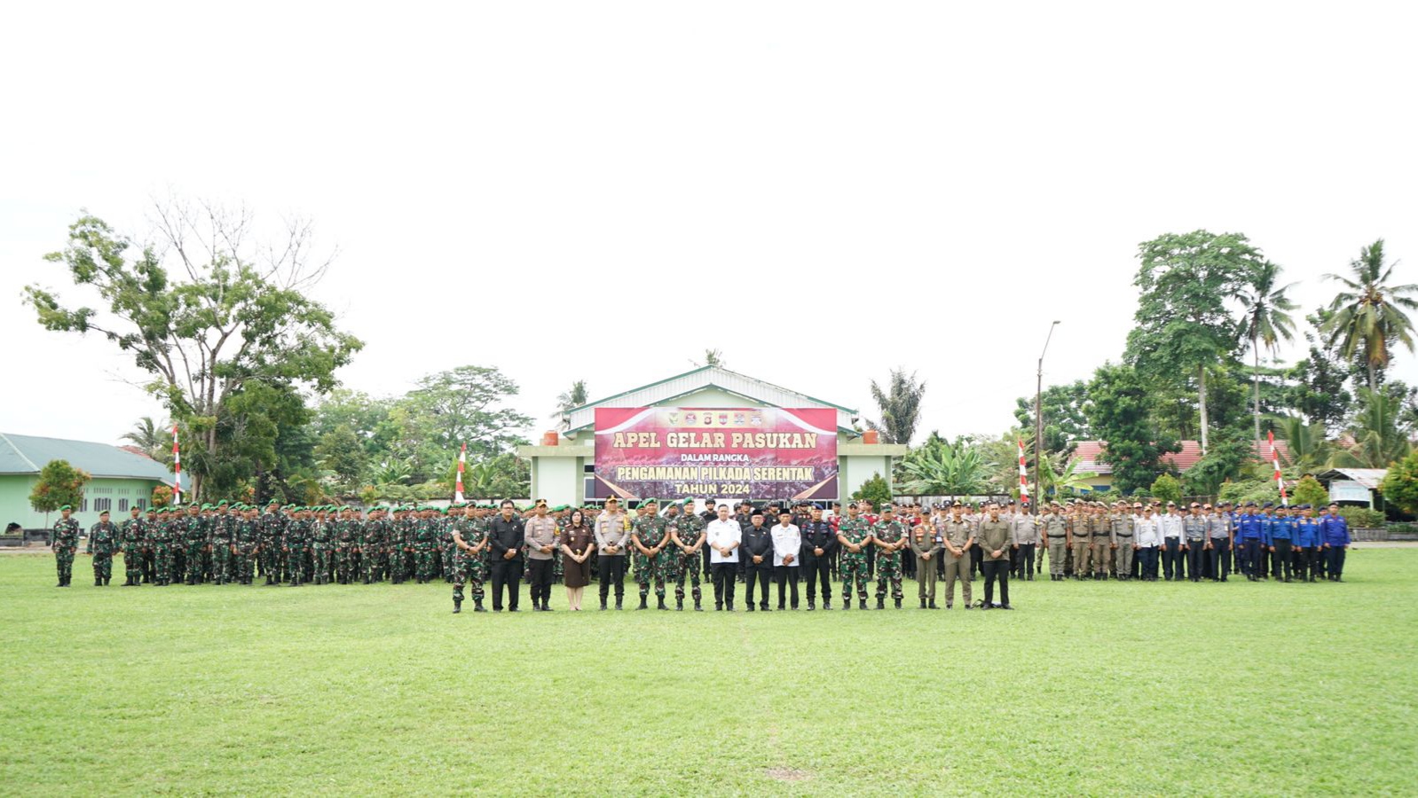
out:
M30 507L30 492L40 481L40 469L57 459L94 478L84 486L84 503L74 513L84 529L96 523L102 510L112 512L116 523L128 516L129 507L146 509L153 488L173 483L166 465L135 451L0 432L0 524L16 522L24 529L48 529L54 523L58 513L37 513Z

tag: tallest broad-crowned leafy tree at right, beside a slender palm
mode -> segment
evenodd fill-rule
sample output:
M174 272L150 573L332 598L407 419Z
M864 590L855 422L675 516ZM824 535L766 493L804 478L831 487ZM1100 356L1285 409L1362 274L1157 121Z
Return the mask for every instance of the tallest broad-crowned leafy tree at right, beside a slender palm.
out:
M1238 325L1227 303L1251 285L1265 261L1245 235L1205 230L1144 241L1137 257L1137 323L1127 335L1126 360L1154 380L1195 376L1205 451L1211 427L1207 371L1238 350Z

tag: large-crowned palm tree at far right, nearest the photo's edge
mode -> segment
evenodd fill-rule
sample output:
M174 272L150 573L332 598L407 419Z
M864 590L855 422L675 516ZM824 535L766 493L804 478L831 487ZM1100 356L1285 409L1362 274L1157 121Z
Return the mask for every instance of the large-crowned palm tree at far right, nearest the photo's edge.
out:
M1358 258L1349 262L1354 279L1340 275L1324 275L1344 283L1349 291L1334 295L1330 310L1334 313L1323 332L1329 333L1329 344L1340 342L1340 353L1346 359L1354 356L1360 344L1364 347L1364 361L1368 364L1368 390L1378 390L1375 371L1388 366L1388 356L1395 343L1414 350L1414 325L1404 310L1418 309L1418 283L1388 285L1398 261L1384 266L1384 240L1380 238L1358 251Z

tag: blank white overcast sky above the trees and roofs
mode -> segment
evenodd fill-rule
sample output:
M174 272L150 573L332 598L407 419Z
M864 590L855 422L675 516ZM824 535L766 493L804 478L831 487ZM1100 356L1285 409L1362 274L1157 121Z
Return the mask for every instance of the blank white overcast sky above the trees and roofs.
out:
M868 417L905 366L920 434L998 434L1052 319L1045 384L1122 354L1157 234L1245 232L1306 310L1380 237L1418 281L1414 9L26 3L0 24L0 431L163 417L21 288L72 293L41 255L81 208L142 237L177 191L316 221L357 390L496 366L536 434L571 380L715 347Z

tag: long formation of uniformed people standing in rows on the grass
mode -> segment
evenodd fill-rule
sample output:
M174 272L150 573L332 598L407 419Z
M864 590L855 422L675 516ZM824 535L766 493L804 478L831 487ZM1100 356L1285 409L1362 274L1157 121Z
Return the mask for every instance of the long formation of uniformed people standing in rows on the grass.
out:
M54 524L52 549L58 587L68 587L79 544L71 507ZM869 502L831 509L794 506L735 507L706 502L655 499L621 509L618 499L601 506L550 507L537 500L518 507L454 503L435 506L302 507L241 502L130 510L113 523L108 512L88 530L94 584L108 585L113 556L123 560L122 585L169 584L418 584L451 583L454 612L469 587L475 611L485 611L485 585L492 609L519 609L520 583L530 585L533 609L550 611L552 584L563 581L570 605L580 609L581 590L598 581L600 608L624 608L627 570L638 588L638 609L654 591L657 608L703 609L702 583L713 584L715 609L735 609L736 585L744 587L746 609L770 611L769 590L777 585L777 608L798 608L800 585L807 609L832 609L832 584L842 585L842 609L868 609L875 583L875 608L888 597L902 607L903 580L917 583L919 605L936 609L937 583L944 607L954 607L960 583L963 607L1011 608L1008 581L1042 574L1051 580L1119 581L1341 581L1350 546L1349 526L1337 505L1329 507L1245 506L1173 502L1058 502L1029 513L1005 503L934 507L883 506ZM984 578L984 601L973 602L971 583ZM998 598L995 601L995 587ZM754 602L754 594L759 601Z

